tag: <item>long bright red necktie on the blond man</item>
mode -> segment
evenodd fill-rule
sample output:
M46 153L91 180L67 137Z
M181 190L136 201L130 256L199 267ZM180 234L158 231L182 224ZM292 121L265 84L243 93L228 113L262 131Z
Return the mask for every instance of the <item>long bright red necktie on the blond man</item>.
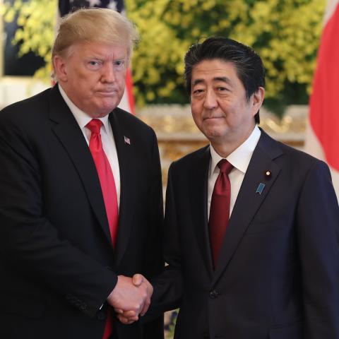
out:
M90 135L90 153L92 153L95 167L97 167L97 175L100 180L102 196L105 202L106 214L109 225L109 232L111 233L112 244L115 246L117 241L118 230L118 201L117 190L115 188L112 168L109 165L107 156L102 148L102 141L100 135L100 127L102 122L99 119L92 119L86 127L91 131ZM109 338L112 334L112 314L110 308L107 312L107 320L105 324L105 331L103 339Z

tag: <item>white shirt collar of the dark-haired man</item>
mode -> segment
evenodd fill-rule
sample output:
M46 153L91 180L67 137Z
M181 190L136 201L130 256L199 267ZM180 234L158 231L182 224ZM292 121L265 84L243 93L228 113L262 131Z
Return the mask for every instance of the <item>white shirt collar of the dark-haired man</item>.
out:
M249 167L249 161L251 160L251 157L253 155L254 149L256 148L256 144L259 141L259 138L261 136L261 131L258 128L258 125L254 127L254 130L252 131L251 135L242 143L239 145L237 149L235 149L228 157L226 157L226 160L230 162L233 167L239 169L242 173L246 173L247 167ZM218 153L215 151L212 145L210 145L210 177L215 171L215 167L218 165L218 162L223 157L220 157Z

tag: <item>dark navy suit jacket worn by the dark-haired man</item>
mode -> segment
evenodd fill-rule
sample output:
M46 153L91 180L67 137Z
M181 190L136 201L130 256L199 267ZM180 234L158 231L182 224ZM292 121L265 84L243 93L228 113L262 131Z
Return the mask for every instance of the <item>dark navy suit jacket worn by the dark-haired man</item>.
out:
M339 208L326 164L262 132L213 271L209 162L206 147L169 169L169 266L153 311L180 306L180 339L338 339Z

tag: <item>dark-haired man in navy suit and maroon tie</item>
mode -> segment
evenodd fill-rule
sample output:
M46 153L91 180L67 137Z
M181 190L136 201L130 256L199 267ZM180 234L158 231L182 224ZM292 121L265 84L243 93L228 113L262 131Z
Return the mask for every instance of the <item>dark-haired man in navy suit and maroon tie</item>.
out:
M210 145L169 168L168 266L151 309L180 307L176 339L338 339L339 208L327 165L256 125L264 69L249 47L194 44L185 75Z

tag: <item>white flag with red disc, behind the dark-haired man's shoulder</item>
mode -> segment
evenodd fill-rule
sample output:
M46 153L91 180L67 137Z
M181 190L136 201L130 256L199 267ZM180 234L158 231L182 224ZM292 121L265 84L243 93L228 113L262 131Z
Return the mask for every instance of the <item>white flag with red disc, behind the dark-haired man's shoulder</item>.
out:
M309 102L305 151L327 162L339 198L339 0L328 0Z

